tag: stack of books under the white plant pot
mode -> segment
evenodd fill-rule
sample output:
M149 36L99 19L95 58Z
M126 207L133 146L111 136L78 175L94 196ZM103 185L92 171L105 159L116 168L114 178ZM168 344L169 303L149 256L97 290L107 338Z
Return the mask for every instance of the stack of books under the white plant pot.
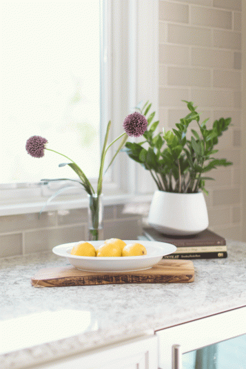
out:
M227 257L226 241L223 237L203 230L198 235L170 236L163 235L154 228L144 228L144 237L149 241L172 243L177 250L163 259L223 259Z

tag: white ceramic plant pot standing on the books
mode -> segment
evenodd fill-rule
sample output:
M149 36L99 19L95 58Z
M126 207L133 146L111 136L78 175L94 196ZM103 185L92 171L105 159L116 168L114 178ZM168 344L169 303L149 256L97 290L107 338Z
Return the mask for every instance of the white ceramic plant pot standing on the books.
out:
M196 235L208 227L203 192L180 194L155 191L148 217L150 226L165 235Z

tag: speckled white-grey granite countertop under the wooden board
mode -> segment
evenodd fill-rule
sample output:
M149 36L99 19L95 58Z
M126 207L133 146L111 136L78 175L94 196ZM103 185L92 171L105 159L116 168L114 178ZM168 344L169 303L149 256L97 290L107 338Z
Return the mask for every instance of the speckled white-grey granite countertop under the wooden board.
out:
M192 283L35 288L30 278L39 269L67 261L52 252L0 259L0 367L25 368L245 306L246 243L227 241L227 250L227 259L194 260Z

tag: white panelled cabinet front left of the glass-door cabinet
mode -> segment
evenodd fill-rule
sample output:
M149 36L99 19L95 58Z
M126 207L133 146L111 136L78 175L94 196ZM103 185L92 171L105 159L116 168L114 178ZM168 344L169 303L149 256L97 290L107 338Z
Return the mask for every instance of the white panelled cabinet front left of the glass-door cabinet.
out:
M114 343L51 363L35 366L37 369L157 369L158 337L144 335Z

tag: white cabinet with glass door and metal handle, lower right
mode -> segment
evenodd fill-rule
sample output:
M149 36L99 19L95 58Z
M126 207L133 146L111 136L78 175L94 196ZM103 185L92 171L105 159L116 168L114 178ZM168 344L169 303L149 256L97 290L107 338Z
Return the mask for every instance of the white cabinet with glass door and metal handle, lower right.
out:
M158 330L156 335L160 369L246 369L246 307Z

